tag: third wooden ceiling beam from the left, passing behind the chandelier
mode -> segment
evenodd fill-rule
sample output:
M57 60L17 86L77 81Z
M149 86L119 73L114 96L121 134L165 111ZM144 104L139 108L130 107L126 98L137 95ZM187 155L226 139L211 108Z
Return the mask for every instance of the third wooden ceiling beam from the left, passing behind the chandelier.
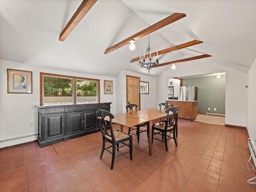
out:
M178 45L178 46L173 46L173 47L171 47L171 48L162 49L162 50L158 51L158 55L162 55L162 54L164 54L164 53L169 53L169 52L171 52L171 51L176 51L176 50L178 50L178 49L187 48L187 47L194 46L194 45L196 45L196 44L201 44L201 43L202 43L202 41L193 40L193 41L191 41L191 42L186 42L186 43L180 44L180 45ZM155 56L156 56L156 52L151 53L151 55L155 55ZM147 58L147 57L149 57L149 55L145 55L145 58ZM130 61L130 63L135 62L135 61L139 61L139 60L140 60L140 57L136 57L136 58L133 58L133 59Z

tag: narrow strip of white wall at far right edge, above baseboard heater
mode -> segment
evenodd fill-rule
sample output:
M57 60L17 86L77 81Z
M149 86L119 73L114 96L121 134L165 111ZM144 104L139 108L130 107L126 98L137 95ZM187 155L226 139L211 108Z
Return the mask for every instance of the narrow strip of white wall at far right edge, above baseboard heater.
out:
M256 58L247 74L247 130L249 137L256 139Z

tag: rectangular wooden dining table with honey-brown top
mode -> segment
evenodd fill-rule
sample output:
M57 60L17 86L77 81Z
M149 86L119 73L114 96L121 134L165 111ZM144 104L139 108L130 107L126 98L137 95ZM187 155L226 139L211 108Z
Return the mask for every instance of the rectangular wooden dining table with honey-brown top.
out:
M121 132L123 127L132 127L140 125L142 123L148 124L148 150L149 156L152 156L152 125L159 123L160 121L166 120L167 113L165 110L160 109L144 109L140 111L132 111L127 113L120 113L114 115L112 123L119 124L121 126Z

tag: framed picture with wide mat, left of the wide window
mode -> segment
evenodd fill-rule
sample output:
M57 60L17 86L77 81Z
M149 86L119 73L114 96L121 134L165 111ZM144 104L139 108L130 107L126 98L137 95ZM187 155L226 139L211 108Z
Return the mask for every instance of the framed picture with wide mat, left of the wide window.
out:
M32 93L32 71L7 69L7 93Z

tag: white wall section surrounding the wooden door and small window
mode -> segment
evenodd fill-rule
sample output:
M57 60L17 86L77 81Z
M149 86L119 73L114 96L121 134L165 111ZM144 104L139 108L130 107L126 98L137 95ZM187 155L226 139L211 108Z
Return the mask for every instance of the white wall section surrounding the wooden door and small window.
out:
M149 94L140 94L140 109L157 109L156 102L156 77L134 73L131 71L121 71L116 77L117 91L117 113L126 113L126 75L140 77L140 81L147 81L149 83Z

